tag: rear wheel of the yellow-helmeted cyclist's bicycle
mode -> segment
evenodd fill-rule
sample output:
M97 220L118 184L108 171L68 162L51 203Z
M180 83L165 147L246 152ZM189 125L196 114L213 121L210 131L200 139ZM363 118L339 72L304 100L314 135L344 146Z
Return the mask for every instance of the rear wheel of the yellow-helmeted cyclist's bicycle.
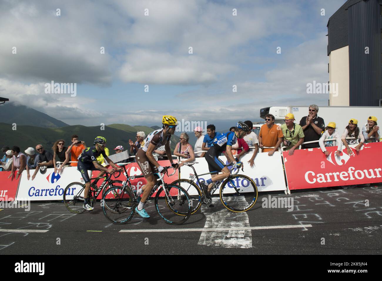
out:
M102 198L101 207L105 217L114 224L127 223L134 215L134 195L129 187L109 187Z

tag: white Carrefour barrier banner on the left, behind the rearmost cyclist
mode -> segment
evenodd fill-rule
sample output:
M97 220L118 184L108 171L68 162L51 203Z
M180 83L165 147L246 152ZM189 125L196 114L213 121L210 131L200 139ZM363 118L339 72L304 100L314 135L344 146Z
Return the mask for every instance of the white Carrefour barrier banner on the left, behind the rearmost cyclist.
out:
M16 197L30 200L63 200L64 190L68 184L74 181L84 183L77 167L65 167L62 174L55 174L54 168L47 169L44 174L39 171L32 181L33 173L34 170L29 171L31 178L28 181L26 171L23 171ZM70 192L73 194L75 187Z

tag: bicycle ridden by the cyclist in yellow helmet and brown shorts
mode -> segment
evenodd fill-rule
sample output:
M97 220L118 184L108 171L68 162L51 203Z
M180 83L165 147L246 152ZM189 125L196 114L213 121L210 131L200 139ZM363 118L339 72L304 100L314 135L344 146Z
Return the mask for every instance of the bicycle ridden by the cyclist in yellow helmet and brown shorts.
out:
M125 224L130 221L135 213L135 207L138 206L140 197L136 196L131 184L132 179L144 178L143 175L129 176L127 174L125 165L123 167L126 181L123 181L122 186L109 187L102 197L102 210L105 217L114 224ZM167 169L173 168L172 166L165 167ZM174 169L175 174L176 170ZM168 174L168 172L167 172ZM171 174L170 176L172 176ZM165 173L155 173L159 177L157 183L153 187L149 197L157 191L154 200L155 210L160 218L168 224L183 224L191 215L191 200L188 193L176 184L167 184L163 177ZM115 196L118 194L118 196ZM147 209L147 202L145 208Z

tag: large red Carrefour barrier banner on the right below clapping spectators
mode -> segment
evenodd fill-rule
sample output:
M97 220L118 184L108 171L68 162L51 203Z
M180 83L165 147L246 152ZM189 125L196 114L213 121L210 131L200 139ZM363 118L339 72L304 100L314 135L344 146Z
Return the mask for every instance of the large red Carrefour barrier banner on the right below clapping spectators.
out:
M339 157L336 147L326 147L326 156L321 149L298 149L289 156L283 152L286 179L289 189L346 186L382 182L382 143L364 144L359 152L356 145L345 146Z

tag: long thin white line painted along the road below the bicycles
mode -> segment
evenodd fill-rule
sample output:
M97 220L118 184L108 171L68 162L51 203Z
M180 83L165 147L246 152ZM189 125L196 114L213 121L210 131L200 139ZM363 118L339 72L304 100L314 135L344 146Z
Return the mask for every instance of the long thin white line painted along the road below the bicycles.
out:
M227 210L228 211L228 210ZM282 229L282 228L304 228L312 227L312 224L294 224L294 225L274 225L274 226L249 226L236 228L168 228L168 229L121 229L119 232L187 232L187 231L237 231L237 230L257 230L257 229Z

